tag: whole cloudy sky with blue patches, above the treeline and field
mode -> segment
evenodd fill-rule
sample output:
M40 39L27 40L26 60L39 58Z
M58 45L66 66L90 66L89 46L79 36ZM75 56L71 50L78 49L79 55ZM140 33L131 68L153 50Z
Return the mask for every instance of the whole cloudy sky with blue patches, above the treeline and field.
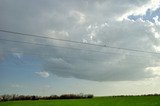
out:
M0 14L0 95L160 93L159 0L0 0Z

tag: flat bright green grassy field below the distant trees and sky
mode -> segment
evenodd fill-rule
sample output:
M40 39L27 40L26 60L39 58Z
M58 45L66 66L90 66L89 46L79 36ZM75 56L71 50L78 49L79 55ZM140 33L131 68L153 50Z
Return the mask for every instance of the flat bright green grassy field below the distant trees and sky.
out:
M160 106L160 96L0 102L0 106Z

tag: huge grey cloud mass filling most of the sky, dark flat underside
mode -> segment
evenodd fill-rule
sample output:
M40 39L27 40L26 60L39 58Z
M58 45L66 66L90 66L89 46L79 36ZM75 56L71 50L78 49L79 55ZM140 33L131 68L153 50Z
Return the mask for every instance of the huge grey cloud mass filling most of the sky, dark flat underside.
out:
M40 0L37 4L31 0L2 0L0 3L2 14L0 16L0 28L60 39L155 52L160 50L158 49L160 47L159 39L156 37L160 33L158 24L140 19L137 21L128 18L121 21L117 20L124 14L131 15L129 13L134 8L143 7L143 5L148 6L148 2L148 0L71 0L70 2L58 0L44 2ZM157 17L158 22L159 17ZM156 33L158 35L155 35ZM60 77L75 77L94 81L140 80L155 77L155 70L154 72L146 70L148 67L158 67L157 63L159 62L158 55L147 53L15 36L2 32L0 32L0 38L61 46L45 47L0 42L0 60L7 53L17 55L16 51L21 52L21 56L34 55L41 58L46 72L36 73L42 77L48 77L47 72L50 72ZM64 46L83 50L62 48Z

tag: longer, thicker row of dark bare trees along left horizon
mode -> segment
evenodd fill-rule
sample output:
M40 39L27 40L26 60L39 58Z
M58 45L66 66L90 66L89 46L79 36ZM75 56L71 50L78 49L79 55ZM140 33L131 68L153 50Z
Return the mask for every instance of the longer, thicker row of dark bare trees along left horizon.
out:
M35 95L1 95L0 101L16 101L16 100L52 100L52 99L83 99L93 98L92 94L63 94L60 96L35 96Z

